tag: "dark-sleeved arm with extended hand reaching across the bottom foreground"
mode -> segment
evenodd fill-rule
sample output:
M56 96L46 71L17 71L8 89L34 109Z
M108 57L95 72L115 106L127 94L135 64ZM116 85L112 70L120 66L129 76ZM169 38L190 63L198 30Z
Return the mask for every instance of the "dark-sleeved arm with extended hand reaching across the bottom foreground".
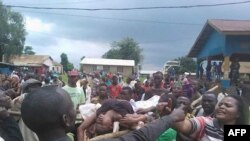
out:
M174 110L170 115L156 120L139 130L135 130L118 139L103 139L101 141L155 141L173 123L182 121L185 118L183 106Z

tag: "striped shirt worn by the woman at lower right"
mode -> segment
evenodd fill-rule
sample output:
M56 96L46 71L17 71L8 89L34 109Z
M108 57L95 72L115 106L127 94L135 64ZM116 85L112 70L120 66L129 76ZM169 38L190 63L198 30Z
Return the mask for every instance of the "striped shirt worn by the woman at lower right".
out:
M223 141L224 131L217 119L210 117L195 117L191 120L191 136L197 141Z

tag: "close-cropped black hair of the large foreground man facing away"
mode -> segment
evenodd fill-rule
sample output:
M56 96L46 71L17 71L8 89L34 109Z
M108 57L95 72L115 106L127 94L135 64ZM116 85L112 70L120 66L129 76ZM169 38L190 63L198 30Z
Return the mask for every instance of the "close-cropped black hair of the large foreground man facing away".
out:
M56 86L38 88L26 95L21 106L24 123L34 132L62 127L63 114L69 111L69 105L60 93L64 90ZM67 93L66 91L64 91Z

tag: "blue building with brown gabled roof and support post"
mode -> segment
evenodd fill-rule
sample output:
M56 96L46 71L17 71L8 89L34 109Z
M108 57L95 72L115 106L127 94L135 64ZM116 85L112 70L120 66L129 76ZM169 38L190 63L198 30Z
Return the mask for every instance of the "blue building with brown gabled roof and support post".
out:
M231 61L250 62L250 20L207 20L187 56L199 63L223 61L223 79L228 80Z

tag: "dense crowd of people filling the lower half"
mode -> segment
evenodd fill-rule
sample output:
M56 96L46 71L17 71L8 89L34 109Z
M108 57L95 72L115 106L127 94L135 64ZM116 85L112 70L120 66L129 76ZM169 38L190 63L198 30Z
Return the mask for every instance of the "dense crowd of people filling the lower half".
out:
M241 95L208 91L209 83L188 75L67 76L1 74L0 141L86 141L121 130L130 132L101 140L222 141L224 125L249 124Z

